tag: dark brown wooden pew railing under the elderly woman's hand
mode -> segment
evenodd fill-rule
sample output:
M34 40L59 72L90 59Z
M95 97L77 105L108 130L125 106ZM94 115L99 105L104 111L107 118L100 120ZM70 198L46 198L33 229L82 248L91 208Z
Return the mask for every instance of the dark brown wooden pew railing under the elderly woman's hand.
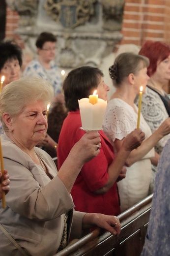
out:
M153 194L118 216L121 233L115 237L95 229L55 256L140 256Z

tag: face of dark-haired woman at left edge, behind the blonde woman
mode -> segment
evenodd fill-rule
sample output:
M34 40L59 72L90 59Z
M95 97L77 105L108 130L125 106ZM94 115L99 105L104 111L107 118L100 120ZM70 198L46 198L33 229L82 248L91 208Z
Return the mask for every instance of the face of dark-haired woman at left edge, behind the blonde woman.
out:
M20 78L20 64L19 61L16 59L8 60L3 65L2 69L0 70L0 76L4 75L4 85L9 84L10 82L16 81Z

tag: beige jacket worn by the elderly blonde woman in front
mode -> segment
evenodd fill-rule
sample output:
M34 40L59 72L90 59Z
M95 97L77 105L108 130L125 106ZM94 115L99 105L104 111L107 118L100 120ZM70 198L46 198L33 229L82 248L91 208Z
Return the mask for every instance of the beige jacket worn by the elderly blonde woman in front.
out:
M56 165L45 151L35 147L53 180L6 134L1 135L1 143L4 168L8 170L11 183L10 192L5 196L5 209L0 201L0 223L28 255L53 256L63 232L63 213L70 211L72 238L81 237L85 213L72 210L72 197L57 177ZM21 254L0 231L0 256L14 255Z

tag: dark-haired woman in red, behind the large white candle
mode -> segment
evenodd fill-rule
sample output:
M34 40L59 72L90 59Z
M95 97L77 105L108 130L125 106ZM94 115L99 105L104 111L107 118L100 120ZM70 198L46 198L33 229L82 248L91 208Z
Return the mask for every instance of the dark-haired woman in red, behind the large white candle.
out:
M105 84L100 69L82 66L70 71L63 83L63 90L69 113L63 122L58 140L58 168L61 168L72 147L85 135L85 131L80 129L82 123L78 99L88 97L97 90L99 98L107 100L109 87ZM141 144L144 134L140 129L129 134L119 154L115 156L109 139L102 130L99 133L102 145L100 154L85 163L71 195L78 211L118 215L120 206L116 181L120 176L125 177L125 160L131 150Z

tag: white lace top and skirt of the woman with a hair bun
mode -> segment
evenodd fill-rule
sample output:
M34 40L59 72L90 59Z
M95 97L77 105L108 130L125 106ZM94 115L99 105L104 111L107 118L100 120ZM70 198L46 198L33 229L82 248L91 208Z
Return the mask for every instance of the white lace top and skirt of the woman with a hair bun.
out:
M138 112L138 107L135 106ZM113 98L107 105L104 119L104 132L114 144L115 139L123 139L128 133L137 128L138 114L134 108L119 98ZM142 114L140 128L148 138L152 133ZM113 145L114 146L114 145ZM151 161L154 148L141 160L127 167L126 178L117 183L120 196L121 212L127 210L148 195L151 178Z

